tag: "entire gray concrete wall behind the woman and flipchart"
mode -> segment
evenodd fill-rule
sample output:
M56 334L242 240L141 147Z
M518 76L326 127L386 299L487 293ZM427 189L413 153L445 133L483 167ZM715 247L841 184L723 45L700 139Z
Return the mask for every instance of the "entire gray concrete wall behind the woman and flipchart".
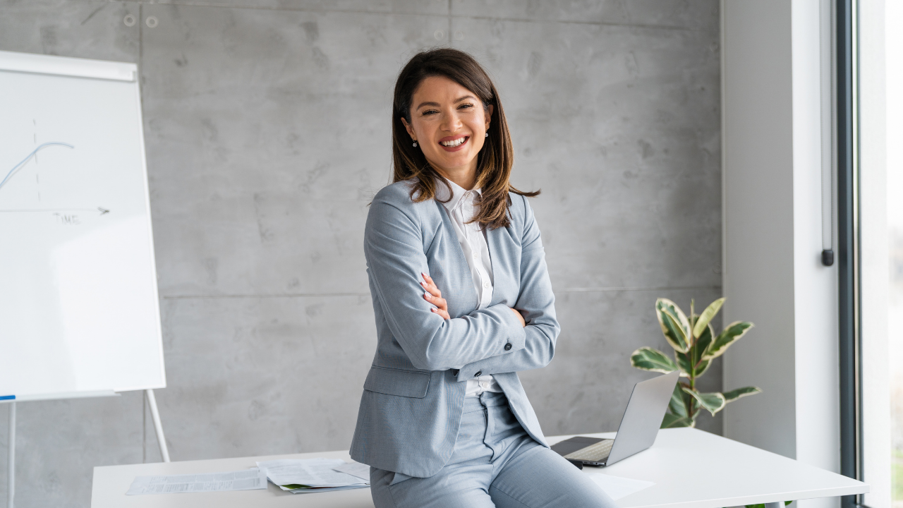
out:
M721 296L716 1L172 4L0 0L0 50L140 66L173 460L349 446L375 347L367 202L396 73L423 48L486 65L514 183L543 190L563 332L522 379L547 434L617 428L649 377L629 354L667 347L657 296ZM703 381L721 388L720 362ZM159 459L138 393L18 412L18 506L87 506L91 467L141 462L145 434Z

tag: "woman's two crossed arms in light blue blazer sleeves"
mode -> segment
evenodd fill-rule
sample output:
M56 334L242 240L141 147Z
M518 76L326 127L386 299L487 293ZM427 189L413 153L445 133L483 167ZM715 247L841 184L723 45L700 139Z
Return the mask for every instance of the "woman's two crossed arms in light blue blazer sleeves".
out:
M414 367L461 369L458 380L466 381L476 372L526 371L552 360L560 328L539 229L525 206L517 310L497 304L451 318L432 278L420 275L429 267L418 218L407 207L374 200L364 242L368 272L386 324Z

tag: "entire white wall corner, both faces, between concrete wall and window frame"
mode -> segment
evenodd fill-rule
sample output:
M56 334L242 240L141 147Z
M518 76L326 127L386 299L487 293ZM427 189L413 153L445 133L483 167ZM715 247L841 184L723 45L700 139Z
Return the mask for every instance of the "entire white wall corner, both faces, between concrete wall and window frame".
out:
M826 2L825 2L826 4ZM725 435L839 470L837 270L821 264L819 0L722 3ZM829 219L830 222L830 219ZM815 500L806 506L836 505Z

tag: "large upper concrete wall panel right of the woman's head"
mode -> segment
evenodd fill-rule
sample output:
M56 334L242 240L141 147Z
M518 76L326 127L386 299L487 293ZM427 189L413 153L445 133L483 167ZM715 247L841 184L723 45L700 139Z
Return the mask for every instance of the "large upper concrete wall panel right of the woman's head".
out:
M454 18L489 68L555 287L721 285L717 34ZM491 128L491 127L490 127Z

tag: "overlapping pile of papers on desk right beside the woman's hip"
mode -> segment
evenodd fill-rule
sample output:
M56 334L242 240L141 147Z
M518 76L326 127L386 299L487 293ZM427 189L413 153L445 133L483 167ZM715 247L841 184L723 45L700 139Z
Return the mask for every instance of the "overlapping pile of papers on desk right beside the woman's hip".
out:
M359 489L370 485L369 468L341 459L309 458L258 462L266 477L294 494ZM364 470L367 473L364 473ZM349 474L350 473L350 474Z

